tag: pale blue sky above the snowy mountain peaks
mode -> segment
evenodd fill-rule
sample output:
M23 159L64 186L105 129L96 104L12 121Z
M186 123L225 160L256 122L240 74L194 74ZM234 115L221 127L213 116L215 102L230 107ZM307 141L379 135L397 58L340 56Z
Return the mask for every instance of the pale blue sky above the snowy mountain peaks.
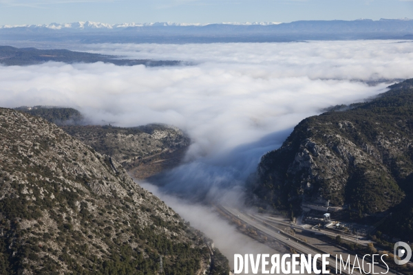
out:
M0 25L413 18L413 0L0 0Z

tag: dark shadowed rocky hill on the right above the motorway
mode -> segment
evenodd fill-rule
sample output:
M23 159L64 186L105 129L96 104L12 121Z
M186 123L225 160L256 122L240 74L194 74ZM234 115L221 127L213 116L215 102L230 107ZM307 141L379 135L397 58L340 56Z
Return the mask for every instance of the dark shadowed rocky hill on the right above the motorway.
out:
M281 148L262 157L252 186L262 205L288 209L330 201L375 213L409 197L412 84L406 80L371 102L301 121Z

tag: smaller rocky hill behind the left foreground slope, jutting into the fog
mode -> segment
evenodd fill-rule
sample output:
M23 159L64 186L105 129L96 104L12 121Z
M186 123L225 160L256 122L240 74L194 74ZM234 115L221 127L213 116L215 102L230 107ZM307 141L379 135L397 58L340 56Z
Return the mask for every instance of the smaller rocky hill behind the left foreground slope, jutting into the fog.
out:
M180 164L190 143L180 129L163 124L133 128L62 126L62 129L99 153L114 157L137 179Z

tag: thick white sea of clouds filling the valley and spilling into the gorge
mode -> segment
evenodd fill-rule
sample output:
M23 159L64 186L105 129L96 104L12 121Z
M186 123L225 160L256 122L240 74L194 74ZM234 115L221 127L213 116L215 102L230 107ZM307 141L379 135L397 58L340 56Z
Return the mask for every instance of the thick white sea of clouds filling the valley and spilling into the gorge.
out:
M176 125L193 140L187 158L196 159L165 177L177 191L242 181L300 120L388 85L362 81L413 77L412 43L403 41L83 47L195 65L0 67L1 106L65 105L100 124Z

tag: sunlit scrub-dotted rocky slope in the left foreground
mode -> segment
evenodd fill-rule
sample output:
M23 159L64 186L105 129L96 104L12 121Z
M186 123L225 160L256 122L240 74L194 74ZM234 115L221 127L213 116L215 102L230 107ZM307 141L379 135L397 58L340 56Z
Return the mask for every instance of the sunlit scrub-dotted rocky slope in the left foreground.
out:
M10 109L0 144L0 274L157 274L161 256L167 274L209 270L202 234L113 157Z

